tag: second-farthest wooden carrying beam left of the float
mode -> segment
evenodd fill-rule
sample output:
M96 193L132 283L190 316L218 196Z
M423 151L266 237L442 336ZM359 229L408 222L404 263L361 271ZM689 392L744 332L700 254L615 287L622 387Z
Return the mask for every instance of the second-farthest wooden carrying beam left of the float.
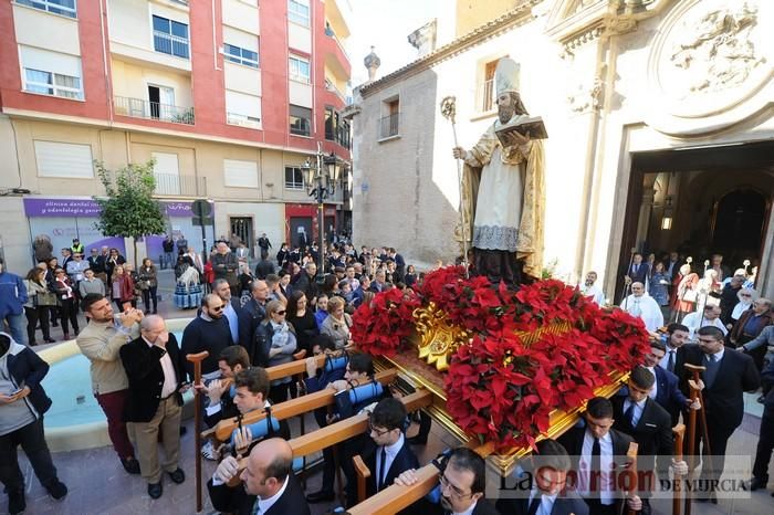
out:
M374 379L381 385L389 385L394 382L397 377L398 371L393 368L378 372L376 376L374 376ZM279 404L272 406L271 414L276 420L285 420L316 410L317 408L325 408L326 406L333 404L335 393L336 392L333 389L326 388L321 391L315 391L314 393L290 399L285 402L280 402ZM242 418L242 425L260 422L265 418L266 413L264 410L253 411ZM231 433L233 433L233 430L238 428L239 422L237 417L234 417L231 419L221 420L215 428L206 431L202 435L215 435L216 440L219 442L224 442L231 438Z

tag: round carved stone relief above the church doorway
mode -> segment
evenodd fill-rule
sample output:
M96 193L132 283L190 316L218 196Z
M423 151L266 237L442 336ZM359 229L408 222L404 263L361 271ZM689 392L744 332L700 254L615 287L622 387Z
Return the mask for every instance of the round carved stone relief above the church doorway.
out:
M703 134L772 102L771 0L681 0L650 44L644 111L668 134Z

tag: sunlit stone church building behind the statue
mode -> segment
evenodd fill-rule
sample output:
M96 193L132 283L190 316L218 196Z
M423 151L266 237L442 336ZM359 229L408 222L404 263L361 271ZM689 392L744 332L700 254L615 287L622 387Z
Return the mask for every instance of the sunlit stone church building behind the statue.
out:
M456 96L457 138L470 148L496 117L493 70L509 56L548 133L544 265L554 275L595 270L617 299L631 249L679 250L700 273L720 252L732 270L757 266L756 288L773 295L772 2L510 4L357 88L354 241L399 248L407 262L453 261L458 175L439 104Z

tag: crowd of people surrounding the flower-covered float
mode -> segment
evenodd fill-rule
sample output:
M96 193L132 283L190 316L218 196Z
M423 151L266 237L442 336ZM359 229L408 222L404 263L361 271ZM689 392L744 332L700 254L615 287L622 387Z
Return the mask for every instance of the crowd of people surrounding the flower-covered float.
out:
M419 432L407 437L411 414L407 413L398 392L381 388L375 380L370 356L357 353L351 336L351 313L376 293L411 287L421 276L389 248L362 248L357 253L346 241L332 245L325 254L325 273L320 274L321 277L317 273L320 253L314 244L303 250L283 244L275 261L268 259L271 249L268 240L259 246L262 259L253 273L249 266L241 265L229 241L215 245L208 260L212 270L209 293L202 295L197 315L186 326L179 343L165 320L148 309L147 304L145 311L137 309L130 299L122 297L123 275L127 272L122 266L125 263L118 263L121 256L114 258L111 280L101 281L102 287L94 277L88 278L96 275L94 269L83 269L77 288L80 308L88 324L77 334L76 341L92 362L92 389L107 419L108 435L121 466L128 474L142 476L151 498L163 495L165 477L172 483L186 481L186 473L179 466L181 395L194 386L203 399L201 409L208 427L257 410L268 413L268 423L262 429L245 425L223 445L209 442L200 450L205 458L218 461L208 481L210 498L217 509L245 515L310 513L310 504L335 498L337 469L346 482L345 504L352 506L362 501L352 463L355 455L360 455L372 471L367 495L393 483L414 484L417 481L415 470L420 463L412 446L427 442L430 419L425 413L418 414ZM189 251L187 248L180 255ZM106 255L112 254L108 250ZM2 265L0 261L0 283L11 284L3 275ZM186 262L186 265L197 267L194 262ZM143 267L150 266L153 263L145 260ZM642 275L641 269L646 266L652 273ZM609 400L592 399L577 427L557 441L545 440L537 445L534 460L542 461L540 470L543 472L530 475L529 470L519 471L530 477L522 496L509 498L504 495L496 504L485 500L483 459L468 449L456 449L436 461L439 481L435 501L429 496L407 513L548 514L556 513L552 509L561 506L567 513L613 514L626 505L648 514L649 492L656 480L669 474L684 476L689 472L686 461L672 459L671 428L681 417L684 421L691 410L698 409L704 410L702 420L707 427L699 428L695 448L687 454L697 456L692 465L702 462L699 479L707 487L697 494L697 501L717 502L726 444L742 422L742 393L757 390L761 378L764 416L751 487L765 487L774 449L774 393L771 393L774 359L762 360L760 365L765 368L761 374L762 367L751 355L757 349L763 349L764 354L766 349L774 349L771 303L765 298L753 299L752 295L745 302L747 297L742 293L750 292L745 290L750 286L745 286L750 281L746 274L729 277L719 273L720 284L712 287L719 294L717 305L699 296L695 305L701 312L689 313L677 303L662 304L665 293L657 286L667 286L669 298L670 288L677 285L679 290L690 274L690 270L680 272L681 267L677 262L669 266L663 263L651 266L635 255L627 271L631 295L621 307L644 318L652 333L650 350L617 396ZM45 295L51 291L45 276L49 270L49 266L41 267L25 280L34 284L20 280L15 287L23 288L28 295L39 287L39 293L31 295ZM139 277L148 277L143 273L140 270ZM672 277L667 273L681 277L677 280L678 275ZM55 282L69 285L71 274L63 269L54 266L53 275ZM206 276L203 269L202 276ZM602 303L595 282L596 274L590 272L582 291ZM105 284L113 287L105 288ZM754 290L751 291L754 294ZM76 297L72 294L71 306L63 307L59 301L71 297L66 292L55 288L54 292L64 324L64 317L76 309ZM249 295L243 295L244 292ZM708 293L705 297L709 296ZM732 302L734 296L738 302ZM687 301L679 292L677 297L680 302ZM647 319L651 313L646 311L646 298L653 301L661 314L661 320L655 325ZM632 306L640 311L632 311ZM663 306L677 311L677 315L672 311L661 311ZM31 307L35 312L28 313L28 317L40 319L43 314L38 309L48 306L33 304ZM725 309L735 317L724 318ZM665 318L672 317L677 322L663 327ZM208 351L200 364L202 381L191 385L194 366L184 357L202 350ZM15 448L19 444L31 455L38 477L54 498L62 498L66 487L56 479L41 422L50 406L40 385L48 366L35 359L36 355L29 348L19 345L12 334L0 334L0 414L3 421L10 421L0 423L0 471L9 492L9 511L21 513L25 500L23 480L17 472ZM325 355L322 367L316 359L321 355ZM339 359L339 366L334 366ZM270 380L268 368L295 360L304 360L303 381L296 382L291 377ZM689 379L693 376L687 365L705 368L699 381L703 406L692 400L695 396L691 396ZM19 390L19 386L23 388ZM322 486L316 492L304 493L295 479L292 452L286 443L291 438L290 428L285 421L272 419L271 409L291 398L326 388L336 392L360 389L358 391L368 393L355 396L356 401L348 403L336 402L332 412L324 408L316 410L314 417L320 428L366 410L369 429L337 444L337 456L332 449L326 449ZM130 433L134 439L129 439ZM610 467L605 464L625 456L632 441L639 445L640 467L655 471L655 475L649 476L653 484L621 495L616 491L615 481L606 475ZM163 453L158 450L159 442ZM248 454L247 467L242 469L239 458ZM571 471L578 472L573 484L567 480ZM240 481L242 485L233 486Z

